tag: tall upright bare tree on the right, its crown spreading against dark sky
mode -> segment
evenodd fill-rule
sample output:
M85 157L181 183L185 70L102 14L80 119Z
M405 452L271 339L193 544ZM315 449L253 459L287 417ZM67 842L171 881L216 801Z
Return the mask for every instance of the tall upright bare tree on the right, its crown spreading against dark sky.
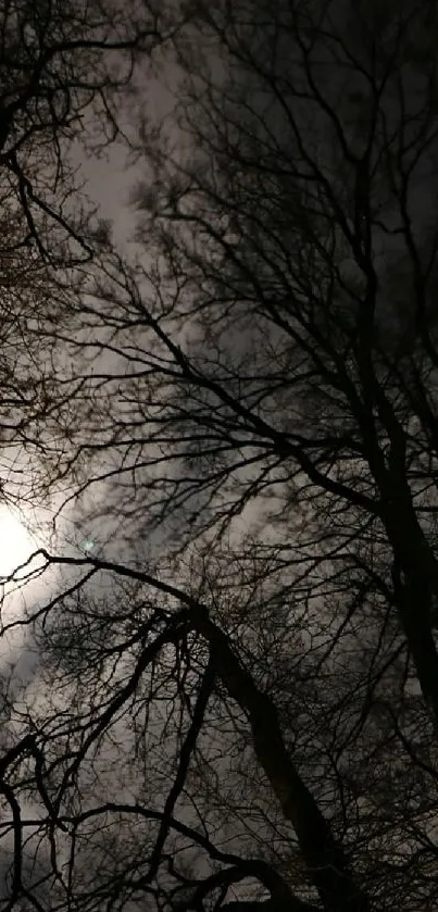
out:
M352 520L359 550L358 524L381 540L437 715L437 232L425 196L435 186L436 22L410 3L368 12L353 22L348 4L204 10L205 46L231 76L224 83L182 48L191 100L182 124L197 151L188 164L170 155L164 170L153 159L174 298L162 310L161 295L155 305L143 298L142 312L182 389L200 399L196 422L179 403L171 413L195 437L186 458L203 459L216 435L218 471L233 479L248 447L252 477L235 510L286 480L293 510L311 489L324 527L330 516L345 535ZM138 204L150 202L147 189ZM178 320L198 328L201 352L174 341ZM193 487L210 496L215 478L203 472Z

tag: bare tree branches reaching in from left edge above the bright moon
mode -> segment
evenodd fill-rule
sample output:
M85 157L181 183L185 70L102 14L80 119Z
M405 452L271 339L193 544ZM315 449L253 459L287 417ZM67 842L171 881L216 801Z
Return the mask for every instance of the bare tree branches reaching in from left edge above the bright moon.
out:
M139 54L143 66L175 22L147 3L12 0L0 13L3 500L36 495L37 464L53 477L63 443L51 416L57 409L60 426L63 415L66 435L80 387L57 332L72 332L67 267L91 257L104 226L82 192L72 143L84 155L110 148L123 101L135 95Z

